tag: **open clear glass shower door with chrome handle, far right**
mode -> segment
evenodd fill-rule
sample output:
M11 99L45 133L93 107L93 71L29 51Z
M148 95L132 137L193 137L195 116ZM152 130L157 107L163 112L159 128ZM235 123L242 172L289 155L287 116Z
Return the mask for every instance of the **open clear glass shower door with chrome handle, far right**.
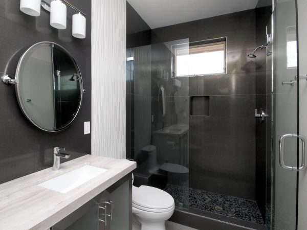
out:
M272 190L271 229L297 229L298 135L296 3L277 1L272 15ZM270 46L268 46L270 48ZM269 65L268 65L269 66Z

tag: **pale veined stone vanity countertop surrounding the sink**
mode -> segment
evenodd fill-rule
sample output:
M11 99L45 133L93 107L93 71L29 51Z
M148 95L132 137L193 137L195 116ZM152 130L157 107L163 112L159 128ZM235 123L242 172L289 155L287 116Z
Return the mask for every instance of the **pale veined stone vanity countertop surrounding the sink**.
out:
M37 186L84 165L108 170L64 194ZM58 171L48 168L3 183L0 229L49 229L135 168L136 163L126 159L85 155L62 163Z

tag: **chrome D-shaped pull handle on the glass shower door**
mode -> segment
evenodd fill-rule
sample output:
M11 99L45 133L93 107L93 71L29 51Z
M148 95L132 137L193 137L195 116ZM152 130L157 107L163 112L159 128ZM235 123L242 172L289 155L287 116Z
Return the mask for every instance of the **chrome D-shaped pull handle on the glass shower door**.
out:
M301 165L299 167L287 166L286 164L284 164L284 140L286 140L287 138L296 138L296 139L298 138L302 142ZM293 171L293 170L301 171L306 167L306 164L305 164L305 143L306 143L306 139L302 135L284 134L280 137L280 140L279 140L279 164L283 169L287 169L287 170L291 170L291 171Z

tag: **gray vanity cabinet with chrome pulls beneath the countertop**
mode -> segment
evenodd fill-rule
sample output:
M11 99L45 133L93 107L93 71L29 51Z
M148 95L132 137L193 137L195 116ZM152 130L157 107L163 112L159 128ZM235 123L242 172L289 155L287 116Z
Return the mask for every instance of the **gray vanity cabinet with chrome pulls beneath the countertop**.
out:
M131 230L132 182L129 173L52 227L52 230Z

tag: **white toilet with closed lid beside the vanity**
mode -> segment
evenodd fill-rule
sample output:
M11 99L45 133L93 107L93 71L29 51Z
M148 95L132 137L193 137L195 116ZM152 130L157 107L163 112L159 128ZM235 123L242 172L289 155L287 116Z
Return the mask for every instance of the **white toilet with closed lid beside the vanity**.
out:
M174 199L167 192L149 186L133 186L133 230L165 230L165 221L174 209Z

